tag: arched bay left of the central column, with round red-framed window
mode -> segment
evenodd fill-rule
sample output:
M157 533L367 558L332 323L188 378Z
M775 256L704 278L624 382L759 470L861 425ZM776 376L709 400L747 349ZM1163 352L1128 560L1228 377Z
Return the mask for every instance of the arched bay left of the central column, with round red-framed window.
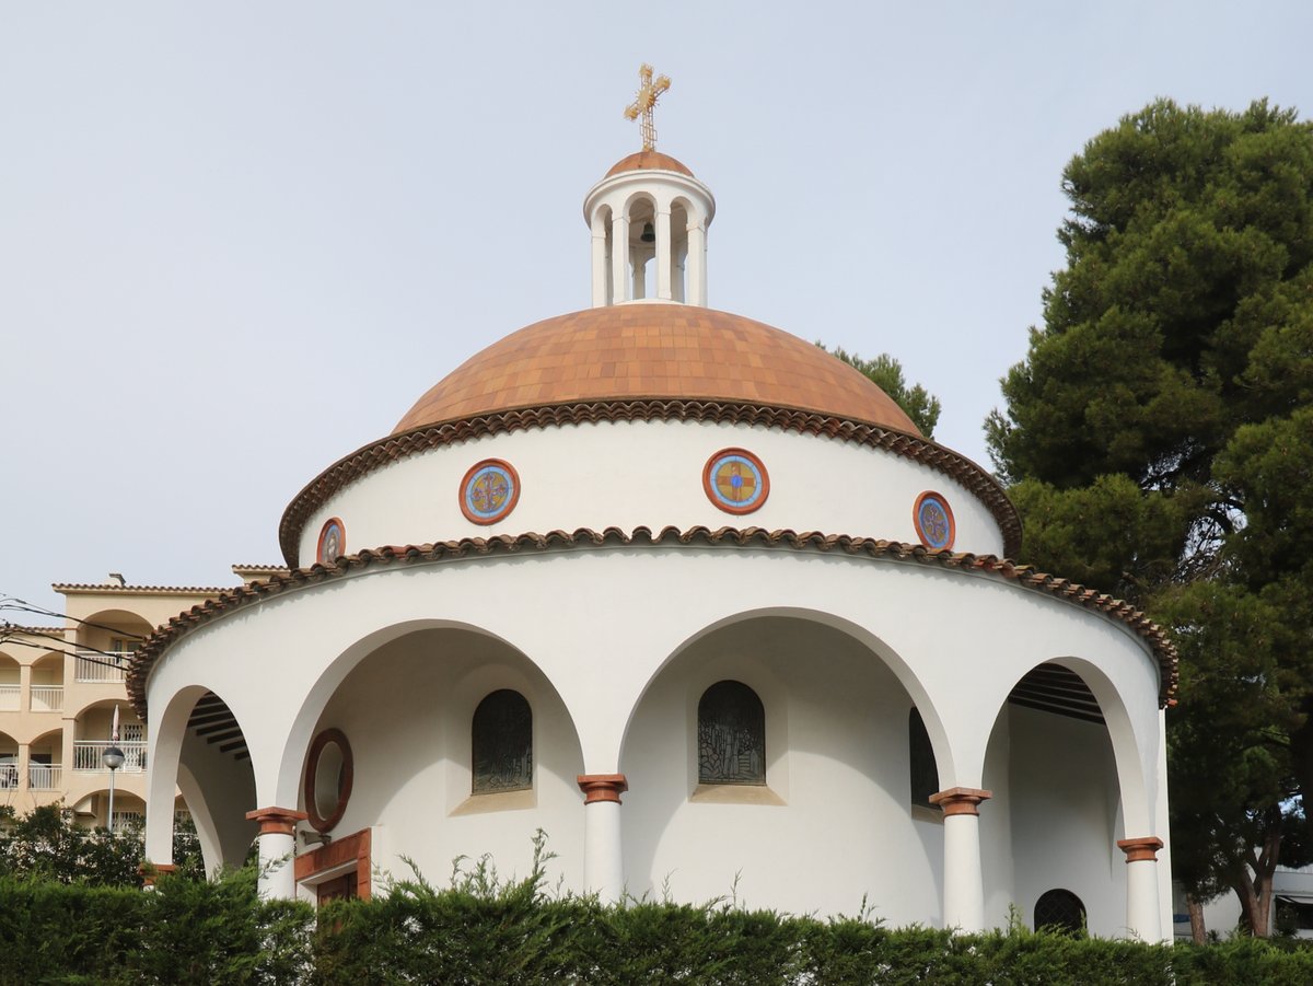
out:
M479 792L471 726L479 704L499 691L530 709L530 782ZM339 817L320 827L324 836L372 831L372 864L383 869L400 865L404 855L432 876L454 857L490 855L503 872L523 873L541 828L562 860L553 864L553 878L582 889L579 738L551 681L504 639L465 622L410 620L344 649L293 721L280 806L312 807L306 755L326 731L349 746L352 780Z

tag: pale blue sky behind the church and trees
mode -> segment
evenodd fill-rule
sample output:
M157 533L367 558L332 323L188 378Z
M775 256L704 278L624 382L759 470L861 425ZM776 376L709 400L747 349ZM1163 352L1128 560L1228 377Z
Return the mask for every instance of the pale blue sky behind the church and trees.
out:
M981 424L1062 264L1064 164L1157 96L1313 114L1305 3L0 0L0 595L228 584L498 337L588 303L582 201L710 185L713 307Z

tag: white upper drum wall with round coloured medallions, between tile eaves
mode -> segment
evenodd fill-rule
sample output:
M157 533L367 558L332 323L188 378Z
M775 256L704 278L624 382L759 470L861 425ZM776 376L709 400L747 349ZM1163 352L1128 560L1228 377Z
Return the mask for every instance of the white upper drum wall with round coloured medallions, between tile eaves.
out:
M771 492L735 516L702 491L706 460L746 448L765 465ZM484 458L515 466L516 508L491 525L461 513L461 479ZM603 421L492 435L391 462L348 484L310 516L301 563L315 559L330 517L347 529L347 551L462 537L646 525L760 526L818 530L916 544L913 507L934 490L952 507L956 551L1003 554L994 516L945 474L882 449L829 437L706 421Z

